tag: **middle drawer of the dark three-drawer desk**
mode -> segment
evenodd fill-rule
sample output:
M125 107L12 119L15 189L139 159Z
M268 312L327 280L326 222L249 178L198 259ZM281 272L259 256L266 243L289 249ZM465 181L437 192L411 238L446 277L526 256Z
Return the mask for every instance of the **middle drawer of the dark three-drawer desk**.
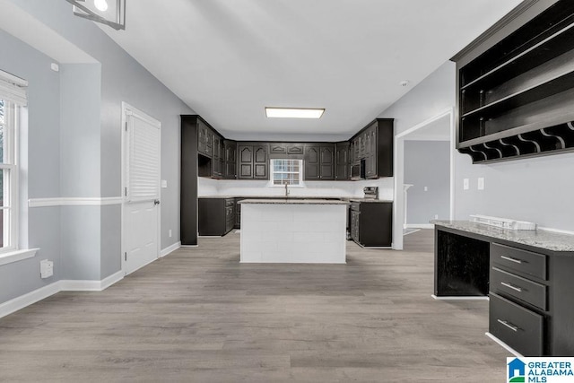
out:
M546 309L546 286L544 284L508 273L496 266L491 267L490 281L492 292L503 292L539 309Z

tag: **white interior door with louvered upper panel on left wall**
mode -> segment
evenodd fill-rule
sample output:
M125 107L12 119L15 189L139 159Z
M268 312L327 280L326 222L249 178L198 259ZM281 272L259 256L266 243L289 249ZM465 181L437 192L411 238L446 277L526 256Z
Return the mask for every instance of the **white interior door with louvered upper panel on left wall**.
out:
M124 107L122 270L133 273L159 256L161 124Z

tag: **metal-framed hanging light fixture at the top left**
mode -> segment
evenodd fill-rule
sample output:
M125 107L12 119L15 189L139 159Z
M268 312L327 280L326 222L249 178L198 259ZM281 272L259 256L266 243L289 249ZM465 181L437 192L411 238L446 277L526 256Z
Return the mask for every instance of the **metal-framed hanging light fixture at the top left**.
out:
M115 30L126 29L126 0L65 0L74 5L74 14Z

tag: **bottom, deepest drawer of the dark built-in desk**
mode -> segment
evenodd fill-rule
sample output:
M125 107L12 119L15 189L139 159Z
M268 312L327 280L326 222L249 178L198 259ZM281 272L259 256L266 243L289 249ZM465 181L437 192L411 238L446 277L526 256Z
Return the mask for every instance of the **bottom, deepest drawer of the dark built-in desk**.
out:
M543 354L544 317L491 292L489 331L525 356Z

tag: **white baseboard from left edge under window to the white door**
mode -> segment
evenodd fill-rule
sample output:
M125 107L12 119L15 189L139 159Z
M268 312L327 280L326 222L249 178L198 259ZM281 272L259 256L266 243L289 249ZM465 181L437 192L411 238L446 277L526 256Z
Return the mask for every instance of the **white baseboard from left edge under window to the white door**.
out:
M101 292L107 289L114 283L121 281L124 278L124 273L118 271L115 274L109 275L101 281L57 281L50 283L47 286L40 287L38 290L28 292L27 294L16 297L13 300L0 303L0 318L12 314L19 309L24 309L31 304L44 300L57 292Z

